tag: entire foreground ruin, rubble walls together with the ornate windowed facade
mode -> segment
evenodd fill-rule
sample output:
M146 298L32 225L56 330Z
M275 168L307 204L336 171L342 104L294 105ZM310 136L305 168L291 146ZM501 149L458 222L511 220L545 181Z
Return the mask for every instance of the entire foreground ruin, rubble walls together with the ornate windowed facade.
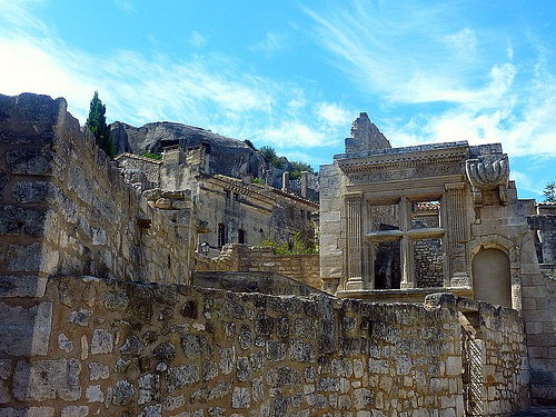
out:
M361 115L321 169L330 295L260 271L240 289L232 272L196 286L191 218L149 205L63 99L0 96L0 415L554 403L552 207L516 198L499 146L389 149L370 128Z

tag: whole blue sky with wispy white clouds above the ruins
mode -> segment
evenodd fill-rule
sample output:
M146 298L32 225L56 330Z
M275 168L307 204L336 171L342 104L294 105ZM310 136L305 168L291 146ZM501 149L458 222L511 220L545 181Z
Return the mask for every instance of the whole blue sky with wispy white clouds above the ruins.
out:
M409 146L502 142L556 180L556 1L0 0L0 92L171 120L318 168L360 111Z

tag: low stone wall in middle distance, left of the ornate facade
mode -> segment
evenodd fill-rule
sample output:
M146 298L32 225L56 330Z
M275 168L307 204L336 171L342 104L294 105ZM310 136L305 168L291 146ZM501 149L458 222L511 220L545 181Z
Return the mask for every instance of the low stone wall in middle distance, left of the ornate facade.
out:
M318 255L275 255L272 248L247 245L226 245L218 258L197 255L195 270L278 272L320 289Z

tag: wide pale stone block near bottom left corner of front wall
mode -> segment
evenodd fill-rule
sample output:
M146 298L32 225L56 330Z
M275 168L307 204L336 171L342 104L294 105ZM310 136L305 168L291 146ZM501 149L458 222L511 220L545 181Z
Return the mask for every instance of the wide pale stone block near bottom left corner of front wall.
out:
M81 397L77 359L18 361L13 373L13 396L20 401L62 399L75 401Z

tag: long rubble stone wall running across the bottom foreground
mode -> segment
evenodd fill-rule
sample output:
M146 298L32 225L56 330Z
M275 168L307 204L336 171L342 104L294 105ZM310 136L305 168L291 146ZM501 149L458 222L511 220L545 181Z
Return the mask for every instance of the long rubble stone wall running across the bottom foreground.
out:
M26 301L0 302L3 415L464 415L454 305L92 277L51 278L42 298ZM527 405L513 336L520 320L489 314L485 383L493 398L514 399L486 404L484 416L507 415L506 405ZM504 364L494 364L500 348Z

